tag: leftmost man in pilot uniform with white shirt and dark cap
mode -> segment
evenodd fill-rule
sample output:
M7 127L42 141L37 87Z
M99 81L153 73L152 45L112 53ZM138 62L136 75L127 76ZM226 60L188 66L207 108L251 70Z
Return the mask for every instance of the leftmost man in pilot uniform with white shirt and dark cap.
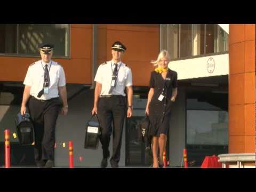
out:
M29 113L34 125L36 166L46 168L54 166L55 125L59 111L61 109L63 115L68 113L65 73L51 60L53 47L51 43L39 45L42 60L28 68L20 109L21 115Z

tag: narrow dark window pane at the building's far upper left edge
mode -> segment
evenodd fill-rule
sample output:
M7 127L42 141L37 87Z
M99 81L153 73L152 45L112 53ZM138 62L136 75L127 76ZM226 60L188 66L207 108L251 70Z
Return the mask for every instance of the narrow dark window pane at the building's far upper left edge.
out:
M17 25L0 25L0 53L17 53Z

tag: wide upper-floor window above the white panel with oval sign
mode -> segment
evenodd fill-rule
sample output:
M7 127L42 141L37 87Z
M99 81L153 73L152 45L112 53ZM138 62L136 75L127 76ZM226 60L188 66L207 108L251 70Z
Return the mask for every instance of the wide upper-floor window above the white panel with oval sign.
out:
M229 35L217 24L161 25L161 49L171 59L228 51Z

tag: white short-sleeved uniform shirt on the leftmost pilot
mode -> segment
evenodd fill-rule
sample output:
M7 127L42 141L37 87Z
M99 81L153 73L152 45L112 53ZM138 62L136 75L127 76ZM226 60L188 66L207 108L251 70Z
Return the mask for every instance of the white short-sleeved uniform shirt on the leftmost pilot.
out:
M43 94L41 98L38 98L37 94L43 89L45 65L46 63L42 60L36 61L34 64L30 65L23 84L31 87L30 95L37 99L48 100L59 97L58 87L65 86L66 79L62 66L54 61L47 63L50 76L49 92L48 94Z

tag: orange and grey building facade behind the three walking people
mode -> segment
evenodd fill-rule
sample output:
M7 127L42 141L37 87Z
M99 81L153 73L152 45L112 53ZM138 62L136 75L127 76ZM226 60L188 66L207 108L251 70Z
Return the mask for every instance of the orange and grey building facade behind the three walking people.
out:
M63 66L68 89L69 114L58 119L55 165L68 166L70 140L75 166L100 165L101 146L84 149L84 129L93 107L94 75L100 63L111 59L110 47L117 40L127 47L123 62L132 69L134 85L134 114L124 125L120 166L151 164L143 143L136 140L136 124L145 116L154 70L150 61L162 49L171 54L169 67L178 72L179 80L166 147L170 165L181 166L183 148L195 166L206 155L255 151L255 25L230 25L229 31L204 24L0 25L0 142L3 145L4 129L10 129L13 165L33 164L33 146L19 146L12 137L13 119L20 110L27 68L39 60L37 47L42 42L55 44L52 59ZM236 97L238 88L242 100ZM3 154L1 150L2 164Z

